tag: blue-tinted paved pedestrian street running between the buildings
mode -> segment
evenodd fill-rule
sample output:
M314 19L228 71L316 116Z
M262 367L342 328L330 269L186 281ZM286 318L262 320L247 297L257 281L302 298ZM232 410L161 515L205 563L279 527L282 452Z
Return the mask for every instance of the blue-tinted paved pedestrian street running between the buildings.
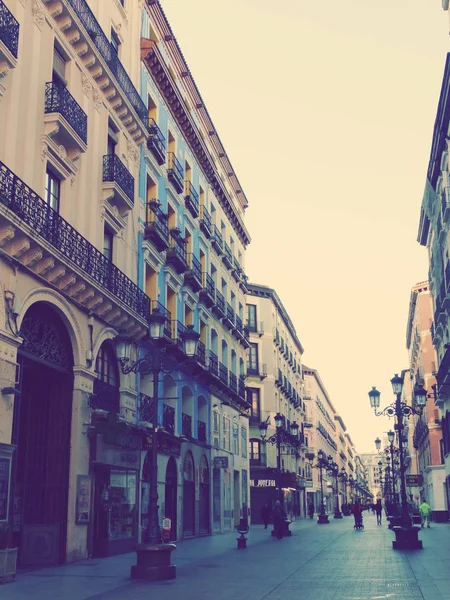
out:
M0 587L1 600L450 600L450 525L422 530L422 551L392 550L393 534L365 514L365 530L353 519L293 525L281 541L252 527L248 548L236 535L178 544L174 581L129 579L134 554L76 565L20 572Z

